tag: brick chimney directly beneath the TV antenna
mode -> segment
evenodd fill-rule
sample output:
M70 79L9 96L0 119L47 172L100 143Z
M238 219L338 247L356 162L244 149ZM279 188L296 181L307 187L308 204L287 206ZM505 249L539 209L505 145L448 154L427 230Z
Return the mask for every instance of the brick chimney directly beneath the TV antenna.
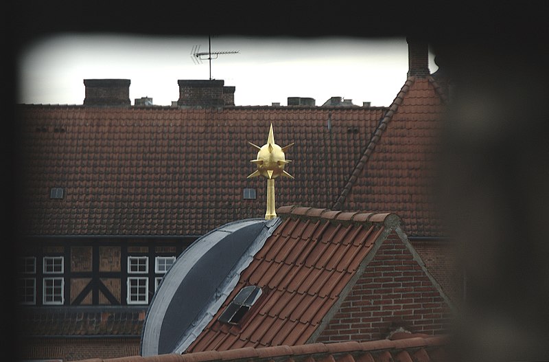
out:
M223 107L235 105L235 87L225 87L224 80L178 80L178 106Z

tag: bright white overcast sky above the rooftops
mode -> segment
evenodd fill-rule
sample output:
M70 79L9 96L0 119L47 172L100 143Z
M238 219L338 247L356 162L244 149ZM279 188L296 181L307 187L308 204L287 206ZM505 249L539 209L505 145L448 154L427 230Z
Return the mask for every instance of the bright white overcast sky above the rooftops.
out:
M130 79L130 100L150 97L168 106L180 79L209 79L209 63L196 65L195 45L208 51L208 36L152 37L60 34L20 54L18 103L83 104L84 79ZM310 97L320 106L333 96L388 106L408 71L405 38L265 38L212 36L211 77L235 86L235 105L287 105ZM430 54L429 68L436 71Z

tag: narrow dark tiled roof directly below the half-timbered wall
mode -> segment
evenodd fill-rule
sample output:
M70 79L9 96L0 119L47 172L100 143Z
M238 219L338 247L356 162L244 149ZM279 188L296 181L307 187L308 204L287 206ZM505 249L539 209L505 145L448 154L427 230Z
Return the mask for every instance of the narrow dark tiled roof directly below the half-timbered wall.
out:
M25 337L139 337L145 308L25 308L17 319Z

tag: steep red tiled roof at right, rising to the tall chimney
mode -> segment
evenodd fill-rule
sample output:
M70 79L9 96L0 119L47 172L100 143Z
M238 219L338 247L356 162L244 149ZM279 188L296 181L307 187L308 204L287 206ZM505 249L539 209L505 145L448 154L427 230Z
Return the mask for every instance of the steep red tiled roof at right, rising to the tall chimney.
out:
M432 77L409 77L333 208L390 210L408 236L443 236L432 195L444 102Z

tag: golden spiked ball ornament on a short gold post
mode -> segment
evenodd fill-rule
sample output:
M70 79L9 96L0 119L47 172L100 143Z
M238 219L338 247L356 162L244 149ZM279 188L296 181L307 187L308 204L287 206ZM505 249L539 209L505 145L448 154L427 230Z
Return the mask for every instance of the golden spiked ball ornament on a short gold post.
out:
M259 152L257 152L257 158L251 160L252 163L257 165L257 170L250 174L247 179L257 176L263 176L267 179L267 212L265 220L270 220L277 217L276 207L274 206L274 179L279 176L290 177L290 179L294 178L284 170L286 163L291 162L291 160L285 159L284 153L288 148L294 146L294 143L284 147L275 144L271 124L266 144L261 147L251 142L248 142L248 144L257 148Z

